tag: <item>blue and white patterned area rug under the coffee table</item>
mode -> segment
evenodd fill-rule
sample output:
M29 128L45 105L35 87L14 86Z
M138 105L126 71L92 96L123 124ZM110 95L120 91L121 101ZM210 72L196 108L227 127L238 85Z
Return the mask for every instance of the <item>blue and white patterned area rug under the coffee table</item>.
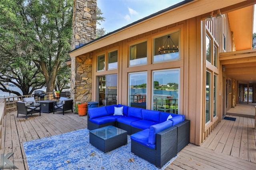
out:
M89 143L87 128L28 141L23 146L29 170L158 170L132 154L130 136L127 145L104 153ZM134 162L129 161L132 158Z

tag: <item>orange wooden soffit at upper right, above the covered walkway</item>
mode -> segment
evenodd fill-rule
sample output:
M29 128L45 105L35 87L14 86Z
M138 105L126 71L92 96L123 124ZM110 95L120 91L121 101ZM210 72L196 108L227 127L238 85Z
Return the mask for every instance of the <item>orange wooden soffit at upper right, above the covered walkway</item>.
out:
M236 51L252 49L254 7L228 12L230 29L234 34Z

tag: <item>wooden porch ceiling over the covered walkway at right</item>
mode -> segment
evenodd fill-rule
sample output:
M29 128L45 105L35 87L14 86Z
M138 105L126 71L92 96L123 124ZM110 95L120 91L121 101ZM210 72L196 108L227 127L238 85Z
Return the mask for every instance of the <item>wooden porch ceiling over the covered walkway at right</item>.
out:
M256 50L242 50L220 53L220 64L225 66L223 72L240 83L256 83Z

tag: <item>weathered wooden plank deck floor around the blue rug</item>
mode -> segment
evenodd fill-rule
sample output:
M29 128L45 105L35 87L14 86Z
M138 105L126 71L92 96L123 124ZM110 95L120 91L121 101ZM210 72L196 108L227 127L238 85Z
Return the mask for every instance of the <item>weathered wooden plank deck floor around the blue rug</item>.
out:
M228 116L228 115L227 115ZM166 170L255 170L256 131L254 119L236 117L236 121L223 120L202 146L190 144L178 153L178 157ZM20 170L28 170L23 142L50 137L87 127L87 117L71 112L41 113L16 117L16 113L4 116L1 154L14 152L14 164Z

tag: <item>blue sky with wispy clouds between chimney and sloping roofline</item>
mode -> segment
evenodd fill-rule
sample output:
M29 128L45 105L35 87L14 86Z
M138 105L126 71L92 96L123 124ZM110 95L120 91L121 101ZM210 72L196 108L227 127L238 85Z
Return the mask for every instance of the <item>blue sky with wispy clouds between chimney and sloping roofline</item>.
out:
M104 28L109 33L182 1L97 0L97 6L106 18L97 28Z

